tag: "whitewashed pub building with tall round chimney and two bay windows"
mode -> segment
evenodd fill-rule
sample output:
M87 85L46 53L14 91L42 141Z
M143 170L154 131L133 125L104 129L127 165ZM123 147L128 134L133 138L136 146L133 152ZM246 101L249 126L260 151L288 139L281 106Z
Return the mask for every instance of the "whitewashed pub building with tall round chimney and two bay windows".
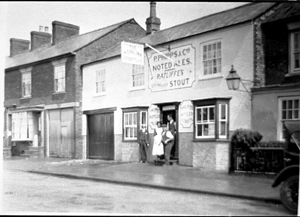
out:
M245 4L160 30L156 3L150 2L146 35L124 41L133 44L126 57L117 43L81 65L86 157L139 161L137 133L146 124L153 161L153 129L170 114L176 129L172 160L228 171L230 134L251 122L252 20L270 5ZM140 45L143 55L137 55ZM228 89L231 65L249 80L245 89Z

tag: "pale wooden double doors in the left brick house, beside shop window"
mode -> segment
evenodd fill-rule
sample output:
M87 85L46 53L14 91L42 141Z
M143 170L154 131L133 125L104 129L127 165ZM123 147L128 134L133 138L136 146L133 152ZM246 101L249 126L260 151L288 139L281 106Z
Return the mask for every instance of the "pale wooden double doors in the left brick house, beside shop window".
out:
M49 155L72 157L74 152L73 108L49 110Z

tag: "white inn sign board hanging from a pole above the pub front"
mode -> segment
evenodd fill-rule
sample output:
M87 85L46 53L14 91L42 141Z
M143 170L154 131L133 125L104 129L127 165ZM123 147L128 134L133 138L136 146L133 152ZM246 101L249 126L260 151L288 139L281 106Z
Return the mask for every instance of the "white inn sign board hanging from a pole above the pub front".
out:
M121 42L121 60L125 63L143 65L143 45L136 43Z

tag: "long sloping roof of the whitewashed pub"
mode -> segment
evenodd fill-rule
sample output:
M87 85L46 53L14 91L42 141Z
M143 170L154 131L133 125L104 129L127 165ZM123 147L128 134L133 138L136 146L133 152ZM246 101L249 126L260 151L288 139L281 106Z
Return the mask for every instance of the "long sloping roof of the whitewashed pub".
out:
M224 10L189 22L175 25L167 29L156 31L153 34L135 38L132 40L132 42L135 41L139 43L148 43L149 45L162 44L176 39L200 34L206 31L234 25L258 17L275 4L275 2L245 4L239 7ZM120 44L117 44L114 47L106 50L97 59L89 60L84 64L116 55L120 55Z

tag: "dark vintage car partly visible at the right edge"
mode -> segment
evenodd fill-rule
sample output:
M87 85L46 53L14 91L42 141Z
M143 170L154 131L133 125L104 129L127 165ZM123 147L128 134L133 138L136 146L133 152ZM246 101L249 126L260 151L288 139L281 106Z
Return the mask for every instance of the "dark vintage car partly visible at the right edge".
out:
M280 201L292 213L297 213L299 188L300 123L283 123L285 143L283 145L283 169L276 175L272 187L280 187Z

